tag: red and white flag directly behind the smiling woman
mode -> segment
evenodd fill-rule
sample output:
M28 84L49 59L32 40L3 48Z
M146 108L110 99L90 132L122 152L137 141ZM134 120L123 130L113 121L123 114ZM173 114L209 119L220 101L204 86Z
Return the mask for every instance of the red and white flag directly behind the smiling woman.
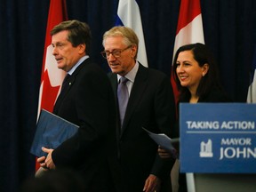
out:
M204 44L204 30L200 0L181 0L172 61L175 52L180 48L180 46L196 43ZM179 92L173 77L171 77L171 82L175 101L177 103Z

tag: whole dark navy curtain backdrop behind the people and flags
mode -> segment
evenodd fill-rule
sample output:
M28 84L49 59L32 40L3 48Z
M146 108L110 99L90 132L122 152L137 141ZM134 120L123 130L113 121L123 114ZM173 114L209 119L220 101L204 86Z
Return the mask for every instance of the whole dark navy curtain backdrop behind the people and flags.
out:
M0 191L18 191L35 171L29 154L36 128L37 100L49 0L0 0ZM170 76L180 0L137 0L149 68ZM67 0L68 18L92 28L91 57L100 56L103 33L113 27L118 0ZM204 39L219 63L221 80L236 102L245 102L256 41L255 0L201 2Z

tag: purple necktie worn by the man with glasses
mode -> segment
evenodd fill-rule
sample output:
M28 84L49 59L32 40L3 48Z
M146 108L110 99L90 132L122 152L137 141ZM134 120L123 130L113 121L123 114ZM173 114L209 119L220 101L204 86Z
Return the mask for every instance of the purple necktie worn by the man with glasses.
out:
M120 82L117 87L117 98L118 98L121 128L123 126L125 110L126 110L127 103L129 100L129 92L128 92L128 88L126 86L127 81L128 81L128 79L125 78L124 76L122 76L120 78Z

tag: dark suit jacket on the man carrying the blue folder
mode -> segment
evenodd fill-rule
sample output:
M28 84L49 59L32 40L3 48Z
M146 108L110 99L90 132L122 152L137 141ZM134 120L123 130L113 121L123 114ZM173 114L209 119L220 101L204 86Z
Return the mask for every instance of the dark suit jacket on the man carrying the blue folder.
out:
M107 157L116 150L116 104L111 84L90 59L76 68L68 83L68 90L60 93L53 113L80 128L52 152L53 163L57 169L82 172L86 191L108 191L112 183L108 180Z

